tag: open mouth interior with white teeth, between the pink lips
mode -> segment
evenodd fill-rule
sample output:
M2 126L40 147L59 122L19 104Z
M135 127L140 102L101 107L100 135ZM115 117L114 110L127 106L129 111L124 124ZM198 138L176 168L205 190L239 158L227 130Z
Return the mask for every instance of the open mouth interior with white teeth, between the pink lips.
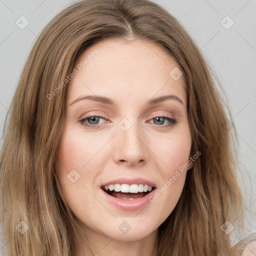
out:
M100 188L113 197L126 200L141 198L155 189L155 187L144 184L113 184L101 186Z

